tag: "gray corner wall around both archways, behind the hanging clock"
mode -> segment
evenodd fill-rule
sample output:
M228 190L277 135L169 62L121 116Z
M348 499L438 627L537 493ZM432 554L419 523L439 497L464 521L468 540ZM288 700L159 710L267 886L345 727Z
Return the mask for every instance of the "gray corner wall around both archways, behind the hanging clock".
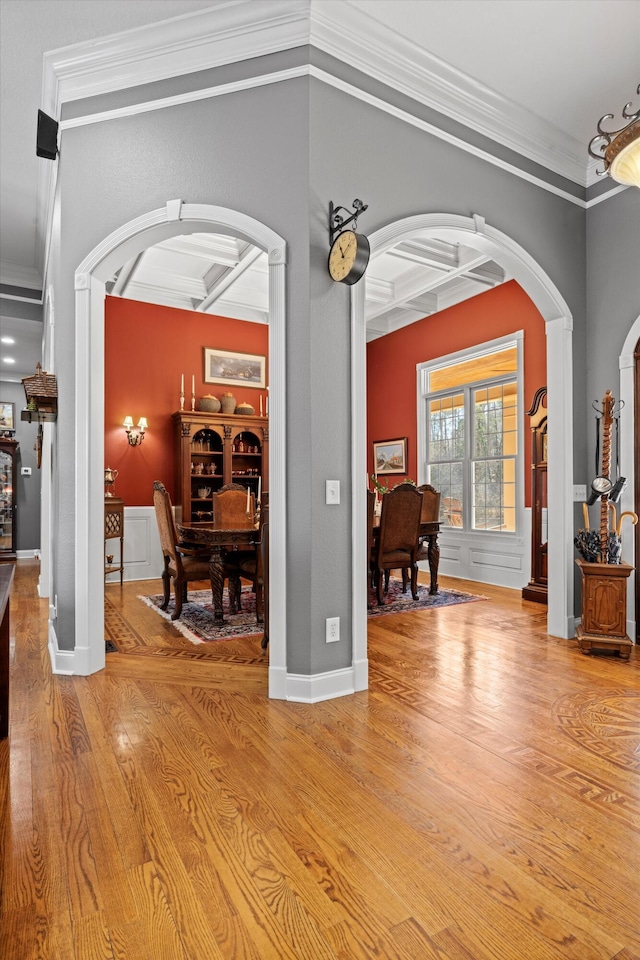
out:
M278 66L282 66L281 58ZM366 85L366 78L361 78ZM407 103L405 106L410 107ZM110 232L166 200L247 213L289 248L288 670L309 674L351 662L349 291L327 274L330 200L369 203L371 232L417 213L480 214L548 272L574 316L576 394L585 353L585 215L567 200L317 80L298 78L66 130L58 178L56 286L60 417L56 473L72 490L73 274ZM576 418L584 464L584 420ZM339 508L324 481L343 483ZM57 636L73 647L73 501L54 508ZM343 642L327 645L324 620L341 618Z

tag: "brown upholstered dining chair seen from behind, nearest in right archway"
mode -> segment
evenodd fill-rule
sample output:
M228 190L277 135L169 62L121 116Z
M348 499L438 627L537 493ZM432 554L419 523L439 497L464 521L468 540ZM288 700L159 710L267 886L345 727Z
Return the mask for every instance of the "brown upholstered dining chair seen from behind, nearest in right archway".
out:
M382 604L382 577L387 570L402 570L402 592L411 571L411 596L418 599L418 537L422 494L412 483L400 483L382 498L380 535L375 549L374 576L378 605Z

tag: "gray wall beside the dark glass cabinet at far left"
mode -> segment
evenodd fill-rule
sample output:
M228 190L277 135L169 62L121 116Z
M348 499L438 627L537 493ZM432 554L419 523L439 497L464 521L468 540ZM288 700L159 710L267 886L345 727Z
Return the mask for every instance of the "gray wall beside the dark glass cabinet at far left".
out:
M15 404L16 434L20 444L17 455L17 537L16 550L40 549L40 486L41 474L36 465L34 444L38 427L35 423L20 420L20 411L24 409L25 395L21 383L0 380L0 400ZM21 467L31 467L31 476L23 477Z

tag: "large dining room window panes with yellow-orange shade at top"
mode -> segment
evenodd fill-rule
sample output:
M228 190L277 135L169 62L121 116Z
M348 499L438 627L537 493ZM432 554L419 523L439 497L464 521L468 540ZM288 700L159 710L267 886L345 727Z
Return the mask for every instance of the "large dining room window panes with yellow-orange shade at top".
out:
M519 342L420 368L426 479L443 527L516 533Z

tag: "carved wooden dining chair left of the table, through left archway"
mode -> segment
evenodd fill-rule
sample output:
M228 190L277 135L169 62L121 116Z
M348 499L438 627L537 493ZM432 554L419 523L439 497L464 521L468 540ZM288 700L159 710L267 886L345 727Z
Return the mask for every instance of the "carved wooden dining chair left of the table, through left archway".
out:
M153 506L164 557L162 571L164 596L160 609L166 610L169 606L171 580L173 580L176 603L171 619L177 620L182 613L182 604L187 601L187 584L193 580L209 579L209 556L203 554L201 550L180 543L171 498L160 480L153 482Z

